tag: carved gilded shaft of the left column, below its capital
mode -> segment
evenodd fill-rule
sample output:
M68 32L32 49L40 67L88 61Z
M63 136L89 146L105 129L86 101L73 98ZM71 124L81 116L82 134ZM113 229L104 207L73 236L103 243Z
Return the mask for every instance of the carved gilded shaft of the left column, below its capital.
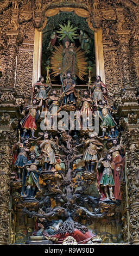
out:
M9 115L7 114L2 117L3 120L9 119ZM11 147L15 139L15 134L12 131L0 131L0 139L0 245L8 245L11 239L11 212L9 209L12 165Z

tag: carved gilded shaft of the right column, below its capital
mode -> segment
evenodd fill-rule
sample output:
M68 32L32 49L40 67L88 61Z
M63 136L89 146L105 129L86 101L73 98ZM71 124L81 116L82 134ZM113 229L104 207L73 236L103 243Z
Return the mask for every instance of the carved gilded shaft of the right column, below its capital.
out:
M127 225L129 230L129 241L132 245L139 245L138 217L139 217L139 176L138 176L138 150L139 131L136 129L125 133L125 145L127 146L127 187L128 187L128 209Z

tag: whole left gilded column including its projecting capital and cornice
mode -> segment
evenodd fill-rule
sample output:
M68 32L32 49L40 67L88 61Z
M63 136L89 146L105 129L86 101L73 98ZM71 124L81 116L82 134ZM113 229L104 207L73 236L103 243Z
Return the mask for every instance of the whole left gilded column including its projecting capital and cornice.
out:
M20 117L13 88L1 89L0 98L0 245L8 245L12 238L11 170L12 146L17 142Z

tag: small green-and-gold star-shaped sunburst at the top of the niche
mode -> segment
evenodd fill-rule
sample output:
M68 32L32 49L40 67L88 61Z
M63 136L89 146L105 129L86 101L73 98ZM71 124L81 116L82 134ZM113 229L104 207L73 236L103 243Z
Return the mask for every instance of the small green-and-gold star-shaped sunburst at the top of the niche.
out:
M78 34L75 33L77 31L78 27L73 27L73 25L71 25L70 21L67 22L67 25L65 24L63 26L63 25L60 24L59 26L60 26L60 30L56 31L56 33L59 34L60 41L62 39L64 39L65 37L68 37L68 39L73 42L73 40L78 35Z

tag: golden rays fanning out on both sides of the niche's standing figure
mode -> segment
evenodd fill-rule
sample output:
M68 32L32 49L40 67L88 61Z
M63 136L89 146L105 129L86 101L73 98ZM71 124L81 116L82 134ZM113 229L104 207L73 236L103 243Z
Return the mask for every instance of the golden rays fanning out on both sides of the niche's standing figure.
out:
M64 47L60 44L59 46L54 46L54 51L52 56L50 57L50 65L52 76L58 76L61 72L63 73L63 56L62 53L64 51ZM87 75L87 60L85 58L85 52L81 50L81 47L74 46L73 51L75 53L75 61L76 61L76 71L75 75L80 78L80 80L84 80L84 76Z

